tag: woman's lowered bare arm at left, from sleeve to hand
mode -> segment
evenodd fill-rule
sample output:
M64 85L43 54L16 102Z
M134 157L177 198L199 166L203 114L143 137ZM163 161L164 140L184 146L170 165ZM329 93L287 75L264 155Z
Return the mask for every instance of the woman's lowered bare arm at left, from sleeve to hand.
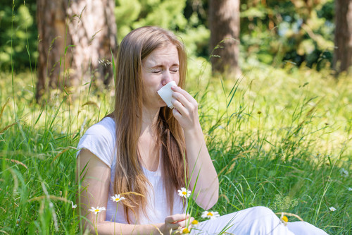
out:
M106 207L108 203L108 189L110 184L111 169L96 157L89 150L81 150L77 157L77 179L82 179L82 186L79 192L78 208L84 219L82 227L88 230L89 234L96 234L95 227L101 234L168 234L170 229L177 229L185 226L185 215L172 215L165 218L161 224L120 224L108 222L106 212L99 212L96 217L89 212L91 207ZM94 226L95 225L95 226Z

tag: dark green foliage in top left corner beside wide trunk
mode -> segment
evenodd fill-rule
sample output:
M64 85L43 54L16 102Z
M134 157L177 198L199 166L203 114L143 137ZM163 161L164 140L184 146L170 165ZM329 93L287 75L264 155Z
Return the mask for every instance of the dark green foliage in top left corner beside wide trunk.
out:
M35 1L6 1L0 8L0 69L29 68L37 59ZM31 53L29 53L31 52Z

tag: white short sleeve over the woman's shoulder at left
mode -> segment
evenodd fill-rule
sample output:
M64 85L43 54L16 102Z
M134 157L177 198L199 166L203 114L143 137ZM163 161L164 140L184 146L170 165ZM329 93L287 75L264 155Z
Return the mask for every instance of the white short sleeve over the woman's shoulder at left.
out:
M107 117L89 127L77 146L77 156L80 150L87 149L104 163L111 167L115 156L115 121Z

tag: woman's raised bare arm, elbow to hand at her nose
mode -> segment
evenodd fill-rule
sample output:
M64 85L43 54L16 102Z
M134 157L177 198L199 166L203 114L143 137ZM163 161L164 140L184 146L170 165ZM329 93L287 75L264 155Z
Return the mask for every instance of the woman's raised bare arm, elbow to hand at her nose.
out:
M210 159L203 131L199 123L198 104L188 92L179 87L172 88L173 114L184 129L191 187L195 186L196 203L204 209L209 209L218 201L219 180L213 162ZM199 179L196 182L196 176Z

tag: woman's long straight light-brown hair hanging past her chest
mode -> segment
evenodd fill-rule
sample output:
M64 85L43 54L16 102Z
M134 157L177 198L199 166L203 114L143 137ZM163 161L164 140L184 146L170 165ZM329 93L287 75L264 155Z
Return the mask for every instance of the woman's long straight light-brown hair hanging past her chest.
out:
M184 45L170 31L147 26L130 32L121 42L118 49L115 80L115 109L111 115L116 125L115 193L124 194L124 205L127 222L129 212L136 218L139 212L146 213L148 198L148 179L144 175L139 157L137 143L142 128L142 105L144 81L142 79L142 61L153 50L173 44L177 47L180 61L180 82L183 88L187 73L187 54ZM172 109L162 107L156 123L158 135L157 146L161 146L161 169L164 179L168 207L172 212L174 195L177 188L184 186L188 166L185 155L184 135L180 124L172 115ZM184 162L186 159L186 162ZM112 173L113 174L113 173ZM167 180L166 180L167 179ZM169 180L170 179L170 180ZM128 194L128 192L139 193Z

